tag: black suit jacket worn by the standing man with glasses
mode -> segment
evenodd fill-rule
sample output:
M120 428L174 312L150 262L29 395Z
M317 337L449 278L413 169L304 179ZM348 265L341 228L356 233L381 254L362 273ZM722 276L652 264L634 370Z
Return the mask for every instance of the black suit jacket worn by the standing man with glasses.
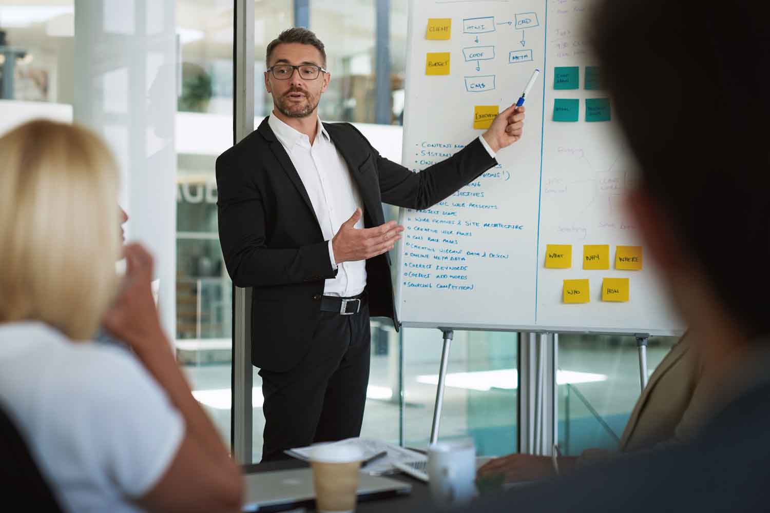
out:
M390 162L349 123L324 123L353 175L367 228L385 222L382 202L423 209L497 165L477 139L420 173ZM320 134L319 134L320 136ZM286 371L306 354L334 278L310 197L267 118L216 159L219 242L233 284L253 287L252 361ZM352 214L352 212L351 212ZM387 254L367 260L370 314L398 327Z

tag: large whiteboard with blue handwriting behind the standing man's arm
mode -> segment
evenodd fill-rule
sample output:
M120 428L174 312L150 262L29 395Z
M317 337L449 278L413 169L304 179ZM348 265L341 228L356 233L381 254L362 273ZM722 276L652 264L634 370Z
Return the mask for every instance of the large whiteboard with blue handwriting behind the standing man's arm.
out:
M397 309L403 325L518 331L679 335L685 326L661 290L623 205L634 160L612 117L586 121L596 65L584 30L591 0L411 0L402 162L415 172L460 151L478 105L516 102L535 68L524 137L497 167L424 211L402 209ZM450 38L428 39L431 18ZM428 54L450 52L449 73L428 75ZM578 67L579 87L554 83ZM594 68L598 69L598 68ZM599 70L601 72L601 70ZM567 85L571 82L567 80ZM577 122L555 122L554 103L578 101ZM561 105L561 104L560 104ZM594 111L592 111L594 113ZM545 267L546 246L571 245L571 268ZM584 245L609 245L610 268L584 270ZM618 270L618 245L641 246L639 271ZM602 301L604 278L629 278L629 299ZM565 304L565 279L588 279L590 302Z

